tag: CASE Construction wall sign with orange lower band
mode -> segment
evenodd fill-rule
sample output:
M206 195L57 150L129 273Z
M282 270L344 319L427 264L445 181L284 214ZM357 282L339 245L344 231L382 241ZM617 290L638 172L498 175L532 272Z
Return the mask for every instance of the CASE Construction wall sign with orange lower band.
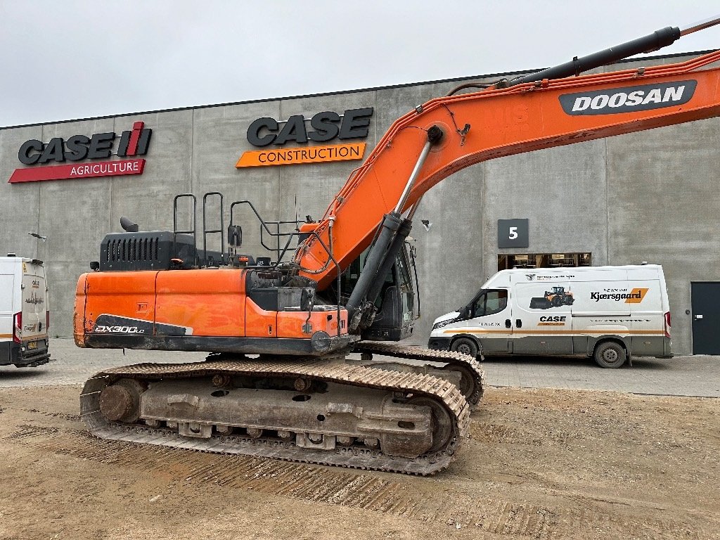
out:
M341 143L334 145L307 145L282 148L286 143L327 143L333 139L366 138L373 108L348 109L344 114L323 111L305 120L302 114L289 117L285 122L274 118L258 118L248 127L248 143L263 150L248 150L235 163L235 167L261 167L271 165L296 165L362 159L365 143ZM306 127L310 122L310 129ZM284 124L280 127L281 124ZM274 145L277 148L266 148Z

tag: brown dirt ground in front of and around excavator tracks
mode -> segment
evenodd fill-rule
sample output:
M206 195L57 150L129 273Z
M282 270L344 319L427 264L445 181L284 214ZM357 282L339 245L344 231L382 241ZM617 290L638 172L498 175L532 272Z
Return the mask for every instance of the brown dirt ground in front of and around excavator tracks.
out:
M490 388L449 471L100 441L0 390L1 539L720 539L720 401Z

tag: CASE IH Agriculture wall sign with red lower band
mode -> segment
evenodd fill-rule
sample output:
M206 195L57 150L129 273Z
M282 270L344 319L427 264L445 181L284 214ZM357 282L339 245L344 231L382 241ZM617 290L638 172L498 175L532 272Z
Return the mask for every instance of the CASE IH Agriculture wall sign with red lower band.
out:
M145 160L141 158L101 162L85 160L107 159L113 153L120 158L145 156L153 130L145 129L144 125L144 122L135 122L132 130L123 131L120 138L114 132L108 132L91 137L73 135L68 140L55 137L47 144L37 139L26 140L20 146L17 158L30 167L15 169L9 183L143 174ZM73 163L47 165L68 161ZM83 163L74 163L76 161Z

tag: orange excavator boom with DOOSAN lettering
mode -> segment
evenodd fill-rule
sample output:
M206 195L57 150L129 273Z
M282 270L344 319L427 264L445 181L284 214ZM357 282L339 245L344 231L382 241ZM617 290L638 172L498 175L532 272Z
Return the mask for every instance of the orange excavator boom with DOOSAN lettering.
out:
M314 230L317 237L311 235L295 253L300 273L324 289L336 266L328 264L319 239L332 246L345 269L372 243L384 215L405 212L432 186L475 163L719 116L720 68L711 67L719 60L716 51L665 66L539 78L416 107L390 127L351 174L323 220L305 225L305 232ZM552 68L546 71L552 74ZM420 149L428 144L424 163L413 172Z

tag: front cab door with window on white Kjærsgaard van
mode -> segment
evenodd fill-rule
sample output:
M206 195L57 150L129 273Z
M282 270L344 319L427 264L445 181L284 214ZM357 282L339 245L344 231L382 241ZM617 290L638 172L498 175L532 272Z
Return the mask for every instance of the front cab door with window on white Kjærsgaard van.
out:
M510 302L507 289L484 289L466 308L467 320L456 333L471 333L476 336L485 353L510 352Z

